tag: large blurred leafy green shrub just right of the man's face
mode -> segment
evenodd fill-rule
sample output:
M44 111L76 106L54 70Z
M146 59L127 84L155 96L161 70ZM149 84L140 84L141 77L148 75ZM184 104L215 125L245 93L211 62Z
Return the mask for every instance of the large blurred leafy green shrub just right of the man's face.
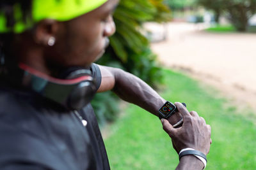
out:
M149 41L140 30L144 22L168 20L170 11L162 0L120 1L114 20L116 33L110 38L110 46L99 64L122 67L143 80L156 85L154 75L159 76L156 55L149 47Z

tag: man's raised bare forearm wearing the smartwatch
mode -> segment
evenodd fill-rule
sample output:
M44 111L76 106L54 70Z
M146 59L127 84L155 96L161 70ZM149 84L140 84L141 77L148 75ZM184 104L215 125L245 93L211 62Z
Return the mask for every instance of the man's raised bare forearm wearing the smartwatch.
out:
M99 68L102 81L98 92L113 90L124 101L136 104L158 117L158 110L166 103L166 100L147 83L122 69L106 66L99 66ZM175 113L168 118L172 125L181 119L180 113Z

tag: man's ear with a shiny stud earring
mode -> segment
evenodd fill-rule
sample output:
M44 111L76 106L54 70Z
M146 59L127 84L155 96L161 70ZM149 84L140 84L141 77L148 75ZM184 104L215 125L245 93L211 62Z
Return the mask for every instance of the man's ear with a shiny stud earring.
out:
M34 38L38 45L52 46L56 41L60 22L45 19L36 24Z

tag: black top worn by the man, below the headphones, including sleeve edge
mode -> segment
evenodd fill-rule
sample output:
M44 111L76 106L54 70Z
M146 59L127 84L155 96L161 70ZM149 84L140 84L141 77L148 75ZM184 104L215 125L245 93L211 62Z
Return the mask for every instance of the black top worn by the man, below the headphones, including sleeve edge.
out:
M99 67L93 76L100 85ZM0 169L109 169L93 108L67 111L34 92L0 87Z

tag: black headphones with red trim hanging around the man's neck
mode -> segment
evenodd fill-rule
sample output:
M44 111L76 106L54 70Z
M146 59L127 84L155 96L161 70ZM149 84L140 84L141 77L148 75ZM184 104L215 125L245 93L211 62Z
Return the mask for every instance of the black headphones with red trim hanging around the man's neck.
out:
M68 110L81 110L92 101L97 91L89 69L73 67L70 71L65 71L63 78L48 76L22 63L17 69L19 69L17 75L20 77L16 77L22 87L31 89Z

